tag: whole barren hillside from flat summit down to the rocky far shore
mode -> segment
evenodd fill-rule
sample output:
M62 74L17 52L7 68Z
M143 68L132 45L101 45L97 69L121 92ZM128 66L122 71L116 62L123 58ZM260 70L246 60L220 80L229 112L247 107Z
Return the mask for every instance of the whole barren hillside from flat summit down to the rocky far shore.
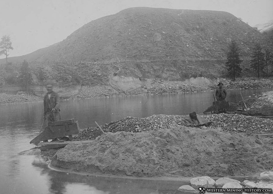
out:
M105 80L114 72L169 80L217 77L224 71L232 39L239 43L242 58L249 58L256 42L271 46L268 38L227 12L138 7L91 21L59 43L9 61L68 68L82 81L98 74Z

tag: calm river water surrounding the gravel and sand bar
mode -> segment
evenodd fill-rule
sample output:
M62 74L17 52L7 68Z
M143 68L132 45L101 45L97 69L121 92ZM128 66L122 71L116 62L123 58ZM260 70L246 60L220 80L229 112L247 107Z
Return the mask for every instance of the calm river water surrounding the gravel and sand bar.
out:
M244 99L272 89L243 90ZM239 90L228 91L229 102L241 100ZM113 97L61 102L62 120L74 118L80 128L103 125L127 116L197 114L212 105L213 92ZM43 117L42 102L0 105L0 194L91 193L156 194L174 192L180 181L133 180L66 174L50 170L40 155L18 155L33 146Z

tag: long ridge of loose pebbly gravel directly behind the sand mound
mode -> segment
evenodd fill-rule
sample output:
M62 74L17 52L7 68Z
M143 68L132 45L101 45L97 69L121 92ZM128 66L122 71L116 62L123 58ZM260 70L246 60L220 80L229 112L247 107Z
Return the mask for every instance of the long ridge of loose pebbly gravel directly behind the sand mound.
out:
M203 116L211 121L206 127L218 128L227 132L260 133L273 131L273 120L250 117L240 114L208 114ZM172 126L186 126L182 115L152 115L146 118L126 117L101 126L104 132L145 132L169 129ZM97 127L83 129L74 138L76 140L95 139L102 132Z

